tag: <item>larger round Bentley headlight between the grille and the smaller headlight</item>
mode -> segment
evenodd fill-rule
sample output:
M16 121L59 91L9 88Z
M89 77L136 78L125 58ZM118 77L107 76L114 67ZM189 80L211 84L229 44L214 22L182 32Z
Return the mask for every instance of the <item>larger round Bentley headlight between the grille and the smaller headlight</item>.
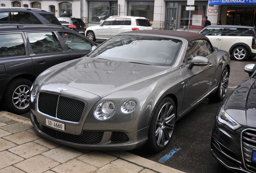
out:
M107 120L116 113L116 103L113 101L104 101L94 110L94 117L98 120Z

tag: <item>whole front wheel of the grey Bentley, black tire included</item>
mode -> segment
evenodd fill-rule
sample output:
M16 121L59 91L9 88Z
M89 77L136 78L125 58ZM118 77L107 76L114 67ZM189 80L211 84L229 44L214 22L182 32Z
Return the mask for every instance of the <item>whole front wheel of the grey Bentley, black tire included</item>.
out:
M171 140L176 121L175 103L165 97L153 114L148 133L147 149L162 151Z

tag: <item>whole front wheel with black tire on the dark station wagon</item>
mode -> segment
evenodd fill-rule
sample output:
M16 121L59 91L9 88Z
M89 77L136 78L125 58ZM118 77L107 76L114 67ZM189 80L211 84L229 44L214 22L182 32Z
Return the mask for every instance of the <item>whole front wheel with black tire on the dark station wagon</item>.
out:
M6 87L3 97L3 109L15 114L29 111L29 94L32 82L24 78L16 78Z

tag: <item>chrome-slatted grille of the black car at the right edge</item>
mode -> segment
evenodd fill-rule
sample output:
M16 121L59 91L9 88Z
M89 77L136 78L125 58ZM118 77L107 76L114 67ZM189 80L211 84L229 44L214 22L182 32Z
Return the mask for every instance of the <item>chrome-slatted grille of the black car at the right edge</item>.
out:
M256 130L248 129L242 133L242 151L244 164L250 171L256 171L256 163L252 162L252 151L256 151Z

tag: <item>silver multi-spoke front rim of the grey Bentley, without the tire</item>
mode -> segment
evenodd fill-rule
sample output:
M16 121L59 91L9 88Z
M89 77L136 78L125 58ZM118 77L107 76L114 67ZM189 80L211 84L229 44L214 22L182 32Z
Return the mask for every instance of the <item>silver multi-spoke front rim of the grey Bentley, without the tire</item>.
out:
M169 143L175 126L175 109L172 103L167 102L161 107L155 127L155 139L159 147Z

